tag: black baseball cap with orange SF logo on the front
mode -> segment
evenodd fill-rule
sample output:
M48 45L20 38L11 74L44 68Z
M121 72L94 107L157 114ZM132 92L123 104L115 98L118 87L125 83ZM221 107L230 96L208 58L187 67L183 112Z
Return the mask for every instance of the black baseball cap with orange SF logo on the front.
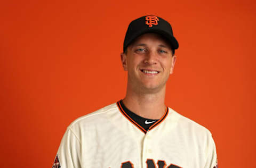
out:
M173 36L171 24L158 16L147 15L129 24L124 38L123 52L137 37L150 32L163 36L170 43L173 53L179 48L179 43Z

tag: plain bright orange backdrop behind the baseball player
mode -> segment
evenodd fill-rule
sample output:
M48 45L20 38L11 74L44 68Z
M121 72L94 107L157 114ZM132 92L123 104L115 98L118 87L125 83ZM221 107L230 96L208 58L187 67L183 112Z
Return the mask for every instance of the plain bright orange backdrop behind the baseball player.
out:
M130 21L169 21L166 104L208 128L220 167L255 166L255 1L1 1L1 167L51 167L77 117L123 98Z

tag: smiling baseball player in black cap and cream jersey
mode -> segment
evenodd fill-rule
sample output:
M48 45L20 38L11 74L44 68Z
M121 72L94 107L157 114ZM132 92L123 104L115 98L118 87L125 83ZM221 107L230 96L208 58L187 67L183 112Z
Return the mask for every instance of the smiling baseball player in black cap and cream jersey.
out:
M71 123L52 168L218 167L210 131L164 103L178 47L164 19L133 20L121 53L125 97Z

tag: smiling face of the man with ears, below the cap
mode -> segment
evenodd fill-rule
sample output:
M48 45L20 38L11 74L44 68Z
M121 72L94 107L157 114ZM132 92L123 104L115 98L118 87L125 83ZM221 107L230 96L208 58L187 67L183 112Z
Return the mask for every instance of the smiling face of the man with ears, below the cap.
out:
M155 33L138 37L121 57L128 71L127 87L146 92L165 88L176 59L169 43Z

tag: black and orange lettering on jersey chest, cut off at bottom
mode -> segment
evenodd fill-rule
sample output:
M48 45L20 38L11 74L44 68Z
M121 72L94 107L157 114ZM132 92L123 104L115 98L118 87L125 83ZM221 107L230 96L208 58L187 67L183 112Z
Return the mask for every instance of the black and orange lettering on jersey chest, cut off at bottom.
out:
M147 164L147 168L181 168L174 164L170 164L169 166L166 167L165 161L161 161L161 160L157 161L157 166L156 166L156 163L153 159L147 159L146 164ZM130 161L127 161L122 163L121 168L136 168L136 167L134 167Z

